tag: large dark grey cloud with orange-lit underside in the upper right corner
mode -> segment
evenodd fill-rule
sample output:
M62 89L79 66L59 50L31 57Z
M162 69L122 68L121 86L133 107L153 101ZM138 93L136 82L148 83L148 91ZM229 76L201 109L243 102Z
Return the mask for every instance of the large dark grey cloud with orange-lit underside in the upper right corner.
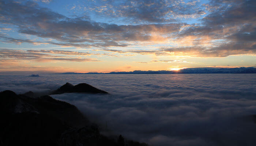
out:
M196 36L197 40L193 42L194 46L172 48L167 51L175 52L180 49L187 54L197 54L195 56L203 57L207 57L207 55L226 57L237 54L255 54L255 1L214 0L209 4L211 7L216 7L216 10L202 19L204 26L190 26L178 34L180 38ZM213 44L212 47L199 47L200 40L206 37L224 41L221 44Z

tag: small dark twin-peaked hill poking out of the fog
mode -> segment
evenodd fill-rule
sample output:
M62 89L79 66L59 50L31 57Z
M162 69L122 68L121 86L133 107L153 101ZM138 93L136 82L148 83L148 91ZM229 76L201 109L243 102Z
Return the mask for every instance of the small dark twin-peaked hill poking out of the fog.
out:
M102 91L100 89L97 89L89 84L86 83L81 83L78 85L72 85L70 83L66 83L65 85L61 86L59 89L55 90L52 92L52 94L63 94L63 93L74 93L74 92L78 92L78 93L103 93L106 94L108 92L106 91Z

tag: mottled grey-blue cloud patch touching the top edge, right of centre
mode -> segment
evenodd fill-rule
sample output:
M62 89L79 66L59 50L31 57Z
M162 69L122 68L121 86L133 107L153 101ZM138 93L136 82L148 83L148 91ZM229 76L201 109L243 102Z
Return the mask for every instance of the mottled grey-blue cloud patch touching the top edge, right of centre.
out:
M119 3L102 1L101 5L105 7L94 6L96 9L92 11L100 16L123 18L124 21L135 23L177 22L177 18L196 18L204 14L199 1L123 0Z

